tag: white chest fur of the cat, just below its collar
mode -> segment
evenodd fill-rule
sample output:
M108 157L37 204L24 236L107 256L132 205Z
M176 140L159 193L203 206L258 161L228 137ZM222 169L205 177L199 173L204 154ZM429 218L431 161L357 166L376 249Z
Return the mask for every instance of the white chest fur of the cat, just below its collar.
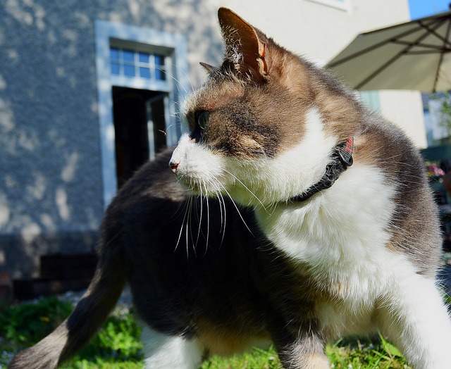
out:
M377 168L356 164L309 201L260 209L257 219L266 237L309 265L320 283L337 286L344 300L362 301L378 294L398 262L385 247L395 204L384 182Z

